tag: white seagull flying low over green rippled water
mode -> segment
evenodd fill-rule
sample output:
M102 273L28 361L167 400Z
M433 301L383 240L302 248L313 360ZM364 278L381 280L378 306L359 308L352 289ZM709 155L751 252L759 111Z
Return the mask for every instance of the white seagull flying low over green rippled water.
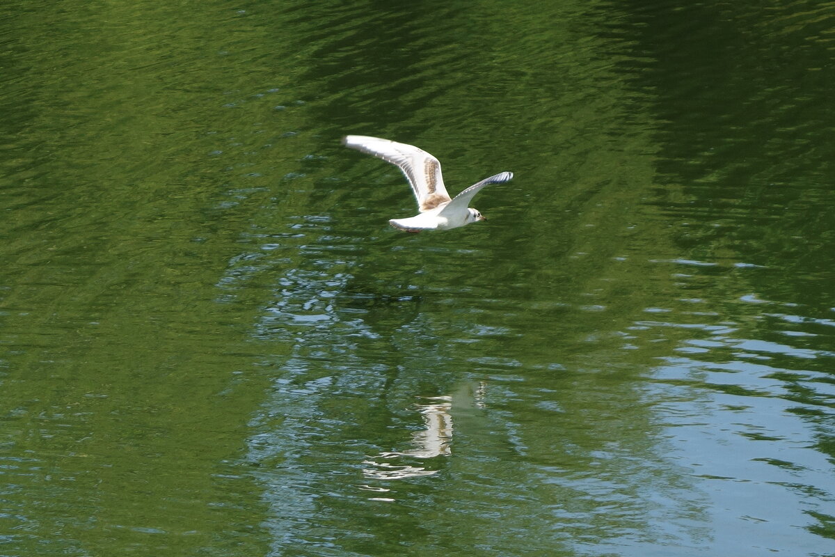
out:
M367 135L346 135L342 144L373 154L399 166L403 171L409 185L412 185L420 213L407 219L389 220L388 224L407 232L449 230L478 220L487 220L478 210L468 207L470 200L485 185L502 184L514 177L513 172L490 176L469 186L453 199L443 185L441 163L423 149Z

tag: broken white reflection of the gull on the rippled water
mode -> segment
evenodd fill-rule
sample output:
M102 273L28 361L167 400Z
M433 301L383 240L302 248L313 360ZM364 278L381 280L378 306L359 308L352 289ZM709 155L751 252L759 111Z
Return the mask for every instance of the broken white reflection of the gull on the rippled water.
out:
M417 412L421 413L423 417L425 428L412 433L414 448L402 452L379 453L376 457L368 458L363 462L368 468L362 469L362 473L367 479L417 478L438 473L438 470L428 470L420 466L379 462L381 459L434 458L450 454L450 443L453 439L453 417L449 410L452 408L452 397L425 397L425 399L432 402L415 406ZM362 486L362 489L377 491L382 488Z

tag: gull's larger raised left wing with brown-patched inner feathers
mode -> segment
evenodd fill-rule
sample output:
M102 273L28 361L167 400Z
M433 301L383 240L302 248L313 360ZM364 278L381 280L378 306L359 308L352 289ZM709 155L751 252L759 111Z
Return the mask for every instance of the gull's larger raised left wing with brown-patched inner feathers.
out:
M412 185L417 207L422 213L450 200L443 185L441 163L423 149L367 135L346 135L342 144L399 166Z

